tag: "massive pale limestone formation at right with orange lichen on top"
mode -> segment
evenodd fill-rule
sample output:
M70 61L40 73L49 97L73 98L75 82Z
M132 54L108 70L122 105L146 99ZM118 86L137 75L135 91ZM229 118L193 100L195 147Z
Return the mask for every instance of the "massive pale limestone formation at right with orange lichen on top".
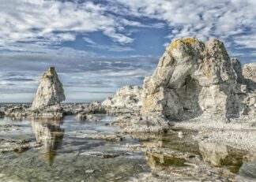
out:
M144 116L171 120L255 118L255 83L245 81L237 59L224 43L177 39L168 46L142 93Z

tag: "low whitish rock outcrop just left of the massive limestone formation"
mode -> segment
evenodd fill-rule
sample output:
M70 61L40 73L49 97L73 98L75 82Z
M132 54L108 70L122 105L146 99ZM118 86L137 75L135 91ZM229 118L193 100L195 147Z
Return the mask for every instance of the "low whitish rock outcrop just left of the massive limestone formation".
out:
M141 87L126 85L119 88L113 98L106 98L101 105L106 108L139 110L142 106L141 94Z

